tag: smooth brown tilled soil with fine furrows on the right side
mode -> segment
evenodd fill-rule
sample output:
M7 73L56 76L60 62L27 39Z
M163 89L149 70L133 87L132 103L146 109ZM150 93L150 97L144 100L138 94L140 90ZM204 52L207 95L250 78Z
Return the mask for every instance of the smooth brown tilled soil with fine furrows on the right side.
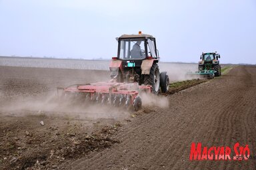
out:
M155 108L123 126L116 136L121 143L79 159L70 168L255 169L255 159L189 160L192 142L231 148L239 142L255 155L255 74L255 66L235 67L221 78L169 96L168 109Z

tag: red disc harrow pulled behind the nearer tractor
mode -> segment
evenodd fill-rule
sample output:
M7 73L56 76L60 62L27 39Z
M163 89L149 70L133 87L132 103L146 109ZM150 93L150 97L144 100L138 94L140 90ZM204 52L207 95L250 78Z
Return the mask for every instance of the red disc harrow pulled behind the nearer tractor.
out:
M125 105L126 108L133 108L135 111L141 108L141 98L139 97L140 91L147 93L152 92L152 87L139 86L137 82L97 82L92 84L74 84L67 88L57 88L57 95L60 95L59 90L64 92L64 95L69 94L84 94L87 100L96 101L101 104L108 104L113 106Z

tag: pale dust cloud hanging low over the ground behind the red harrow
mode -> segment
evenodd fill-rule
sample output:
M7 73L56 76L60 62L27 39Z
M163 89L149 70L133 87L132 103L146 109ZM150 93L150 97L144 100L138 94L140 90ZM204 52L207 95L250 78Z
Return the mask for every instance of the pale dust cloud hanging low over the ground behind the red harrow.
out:
M130 113L122 108L103 106L85 100L66 98L62 100L57 94L45 97L21 97L9 101L1 108L8 116L61 116L79 120L96 120L99 118L122 120Z

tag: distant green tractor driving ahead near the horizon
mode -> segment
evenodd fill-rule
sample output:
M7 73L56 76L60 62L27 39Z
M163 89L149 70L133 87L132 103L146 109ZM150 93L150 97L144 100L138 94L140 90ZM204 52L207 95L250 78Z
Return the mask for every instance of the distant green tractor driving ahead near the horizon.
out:
M199 61L199 74L206 76L221 76L221 65L219 64L221 56L217 52L206 52L201 54Z

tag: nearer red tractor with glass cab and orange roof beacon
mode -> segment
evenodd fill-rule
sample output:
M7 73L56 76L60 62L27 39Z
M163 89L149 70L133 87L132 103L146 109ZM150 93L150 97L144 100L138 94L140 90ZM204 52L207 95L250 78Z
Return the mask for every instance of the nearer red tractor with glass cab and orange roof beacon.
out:
M151 35L122 35L117 38L117 57L110 64L111 78L117 82L137 82L151 85L154 94L165 93L169 89L167 72L159 72L159 52L155 38Z

